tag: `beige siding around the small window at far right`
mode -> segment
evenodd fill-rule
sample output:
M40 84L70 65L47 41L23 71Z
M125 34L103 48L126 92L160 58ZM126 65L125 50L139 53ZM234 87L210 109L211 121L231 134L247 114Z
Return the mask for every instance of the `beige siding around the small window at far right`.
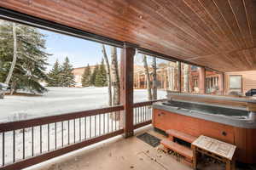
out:
M236 71L225 73L225 93L230 92L230 75L242 76L242 94L245 94L249 89L256 88L256 71Z

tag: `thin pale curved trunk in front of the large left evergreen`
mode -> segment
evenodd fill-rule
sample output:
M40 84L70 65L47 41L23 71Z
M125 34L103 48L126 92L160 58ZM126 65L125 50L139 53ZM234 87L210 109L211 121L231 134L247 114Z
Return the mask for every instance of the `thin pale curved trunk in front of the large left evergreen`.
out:
M14 58L13 58L11 66L10 66L8 76L6 77L6 80L4 82L7 85L9 85L9 81L10 81L10 79L13 75L13 72L15 70L15 64L16 64L16 60L17 60L17 36L16 36L16 24L15 23L13 23L13 37L14 37ZM3 96L4 96L4 94L3 94Z

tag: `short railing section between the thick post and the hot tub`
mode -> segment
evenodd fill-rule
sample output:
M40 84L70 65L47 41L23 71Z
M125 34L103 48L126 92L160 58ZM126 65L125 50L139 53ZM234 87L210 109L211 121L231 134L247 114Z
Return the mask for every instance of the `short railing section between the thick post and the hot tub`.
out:
M133 105L133 124L134 128L146 126L152 122L152 105L155 102L166 99L156 99L151 101L139 102Z

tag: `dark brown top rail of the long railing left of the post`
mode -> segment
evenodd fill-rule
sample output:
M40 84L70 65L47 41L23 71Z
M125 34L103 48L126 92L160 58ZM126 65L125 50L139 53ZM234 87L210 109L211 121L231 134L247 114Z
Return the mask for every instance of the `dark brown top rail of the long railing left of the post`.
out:
M96 109L96 110L78 111L78 112L61 114L61 115L37 117L37 118L32 118L32 119L27 119L22 121L15 121L15 122L3 122L3 123L0 123L0 133L18 130L21 128L40 126L40 125L54 123L54 122L68 121L71 119L76 119L84 116L94 116L98 114L103 114L103 113L108 113L113 111L123 111L123 110L124 110L124 105L117 105L113 107L106 107L106 108Z

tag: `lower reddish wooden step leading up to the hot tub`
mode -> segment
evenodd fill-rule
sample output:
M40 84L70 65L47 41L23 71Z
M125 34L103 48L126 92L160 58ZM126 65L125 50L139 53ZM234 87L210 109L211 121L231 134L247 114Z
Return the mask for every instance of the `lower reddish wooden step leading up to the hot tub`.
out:
M181 156L189 158L189 160L193 160L193 151L181 144L177 144L168 139L162 139L160 144L163 144L166 148L177 152Z

